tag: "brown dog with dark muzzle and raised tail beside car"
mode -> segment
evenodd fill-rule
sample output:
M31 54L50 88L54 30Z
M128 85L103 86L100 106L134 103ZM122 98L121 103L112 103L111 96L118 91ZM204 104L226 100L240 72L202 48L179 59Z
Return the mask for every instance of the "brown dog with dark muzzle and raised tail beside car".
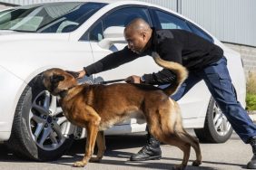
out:
M85 127L87 133L86 150L82 161L74 166L84 166L88 161L100 161L105 150L103 130L131 117L144 117L153 137L183 151L182 165L188 163L191 146L196 153L192 165L201 165L202 155L197 139L191 137L182 127L181 111L178 104L169 98L187 77L187 71L175 62L162 61L155 57L156 63L174 71L177 83L164 90L143 85L116 83L112 85L77 85L74 77L61 69L44 71L44 87L53 95L61 97L65 117L74 125ZM97 143L97 157L91 157L94 143Z

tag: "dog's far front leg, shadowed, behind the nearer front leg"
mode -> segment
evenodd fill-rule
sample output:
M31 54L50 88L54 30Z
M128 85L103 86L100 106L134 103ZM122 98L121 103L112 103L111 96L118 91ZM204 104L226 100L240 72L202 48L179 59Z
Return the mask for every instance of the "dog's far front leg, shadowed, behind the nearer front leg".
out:
M96 143L98 146L98 153L97 157L91 157L90 162L100 162L103 158L104 151L106 149L105 146L105 137L104 137L104 132L99 131L97 138L96 138Z

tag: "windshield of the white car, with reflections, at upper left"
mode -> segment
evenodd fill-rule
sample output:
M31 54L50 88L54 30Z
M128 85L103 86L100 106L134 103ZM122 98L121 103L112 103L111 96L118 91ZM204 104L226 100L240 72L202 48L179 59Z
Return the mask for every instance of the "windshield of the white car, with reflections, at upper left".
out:
M26 5L0 13L0 30L32 33L69 33L103 7L102 3Z

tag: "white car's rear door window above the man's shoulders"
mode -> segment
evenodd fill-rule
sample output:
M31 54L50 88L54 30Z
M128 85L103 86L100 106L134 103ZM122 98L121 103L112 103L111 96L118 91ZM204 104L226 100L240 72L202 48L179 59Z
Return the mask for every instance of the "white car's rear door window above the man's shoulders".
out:
M161 24L162 29L182 29L190 31L190 28L186 22L173 14L164 13L159 10L155 10L155 14L158 18L159 23Z

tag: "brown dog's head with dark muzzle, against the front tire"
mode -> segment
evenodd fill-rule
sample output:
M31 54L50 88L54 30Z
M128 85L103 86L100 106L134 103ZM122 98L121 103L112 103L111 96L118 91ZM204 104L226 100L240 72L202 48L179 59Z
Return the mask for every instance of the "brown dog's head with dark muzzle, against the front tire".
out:
M53 95L69 90L77 85L74 77L62 69L50 69L43 73L43 84L46 90Z

